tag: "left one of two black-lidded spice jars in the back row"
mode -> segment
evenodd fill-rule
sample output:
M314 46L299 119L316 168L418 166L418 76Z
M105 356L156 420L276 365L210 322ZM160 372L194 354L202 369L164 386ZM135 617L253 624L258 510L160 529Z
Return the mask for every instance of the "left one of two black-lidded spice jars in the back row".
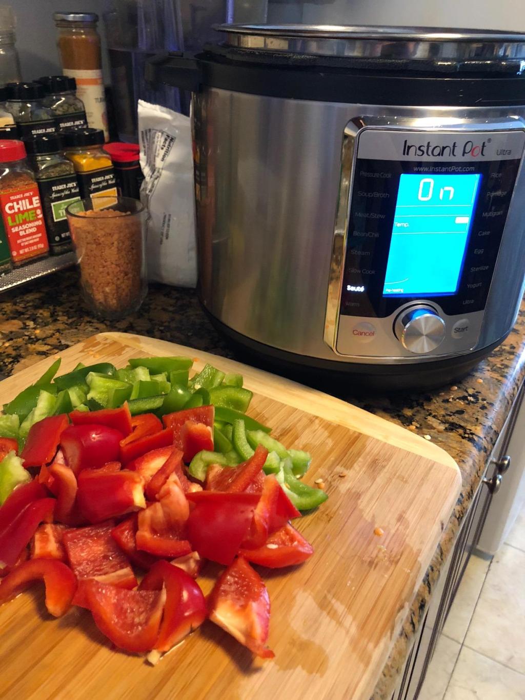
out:
M54 134L55 120L42 104L45 87L40 83L8 83L6 108L13 115L21 139Z

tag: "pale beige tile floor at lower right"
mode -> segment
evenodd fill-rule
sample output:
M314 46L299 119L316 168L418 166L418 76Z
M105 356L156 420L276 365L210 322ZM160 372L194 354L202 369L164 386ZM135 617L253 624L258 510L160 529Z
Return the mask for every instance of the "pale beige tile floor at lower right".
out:
M471 556L419 700L525 700L525 508L493 559Z

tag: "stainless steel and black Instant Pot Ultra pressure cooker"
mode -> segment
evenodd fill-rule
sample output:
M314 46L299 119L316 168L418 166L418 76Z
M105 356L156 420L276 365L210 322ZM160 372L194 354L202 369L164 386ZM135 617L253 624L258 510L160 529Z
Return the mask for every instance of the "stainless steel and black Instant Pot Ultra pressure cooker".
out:
M281 365L381 386L468 371L524 291L525 35L218 30L149 66L193 91L211 318Z

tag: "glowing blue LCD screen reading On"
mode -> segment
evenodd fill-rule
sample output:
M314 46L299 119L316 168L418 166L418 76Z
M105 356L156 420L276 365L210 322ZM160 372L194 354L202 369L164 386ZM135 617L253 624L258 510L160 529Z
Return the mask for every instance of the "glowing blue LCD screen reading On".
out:
M456 293L480 179L400 176L383 296Z

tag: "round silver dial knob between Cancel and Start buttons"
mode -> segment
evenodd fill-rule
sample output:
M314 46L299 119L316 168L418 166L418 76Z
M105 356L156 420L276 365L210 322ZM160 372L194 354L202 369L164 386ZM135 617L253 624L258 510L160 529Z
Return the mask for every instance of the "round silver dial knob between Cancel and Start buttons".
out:
M416 355L435 350L445 335L443 319L424 304L402 311L395 320L394 330L402 346Z

